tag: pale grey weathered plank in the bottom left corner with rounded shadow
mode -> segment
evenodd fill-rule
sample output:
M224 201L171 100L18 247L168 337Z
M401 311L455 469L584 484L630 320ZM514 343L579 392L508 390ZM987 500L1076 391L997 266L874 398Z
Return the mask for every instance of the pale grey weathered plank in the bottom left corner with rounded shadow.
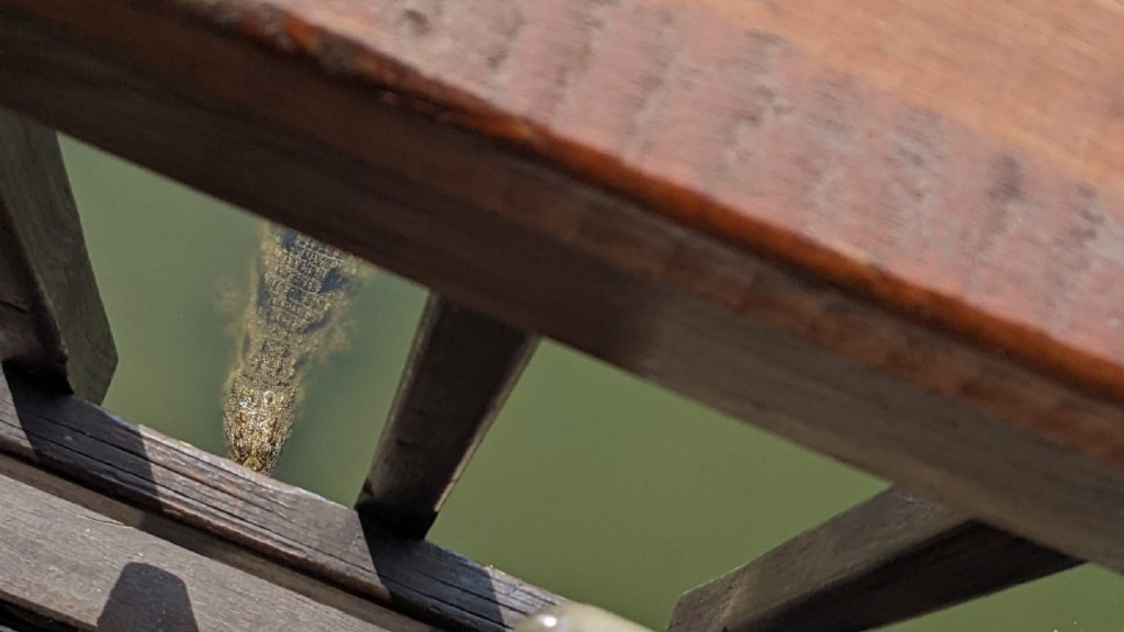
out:
M0 598L76 628L428 630L390 612L362 621L6 475L0 502Z

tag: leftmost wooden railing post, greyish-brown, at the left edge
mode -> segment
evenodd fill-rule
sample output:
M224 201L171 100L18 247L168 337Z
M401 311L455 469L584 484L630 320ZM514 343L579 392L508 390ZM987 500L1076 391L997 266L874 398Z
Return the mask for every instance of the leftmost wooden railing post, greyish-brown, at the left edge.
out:
M117 367L55 133L0 110L0 361L99 403Z

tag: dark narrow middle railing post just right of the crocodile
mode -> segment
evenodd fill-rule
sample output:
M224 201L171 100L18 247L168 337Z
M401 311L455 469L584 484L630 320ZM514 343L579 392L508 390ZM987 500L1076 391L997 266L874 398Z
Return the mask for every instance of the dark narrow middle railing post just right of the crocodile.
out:
M425 538L535 342L430 295L355 507L396 532Z

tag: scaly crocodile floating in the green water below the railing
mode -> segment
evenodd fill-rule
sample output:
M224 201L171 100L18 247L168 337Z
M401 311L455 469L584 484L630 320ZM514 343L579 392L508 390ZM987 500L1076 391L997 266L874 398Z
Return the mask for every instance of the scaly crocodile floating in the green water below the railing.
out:
M223 401L233 460L272 472L300 410L307 371L337 346L341 312L362 273L351 255L287 228L265 227L245 333Z

